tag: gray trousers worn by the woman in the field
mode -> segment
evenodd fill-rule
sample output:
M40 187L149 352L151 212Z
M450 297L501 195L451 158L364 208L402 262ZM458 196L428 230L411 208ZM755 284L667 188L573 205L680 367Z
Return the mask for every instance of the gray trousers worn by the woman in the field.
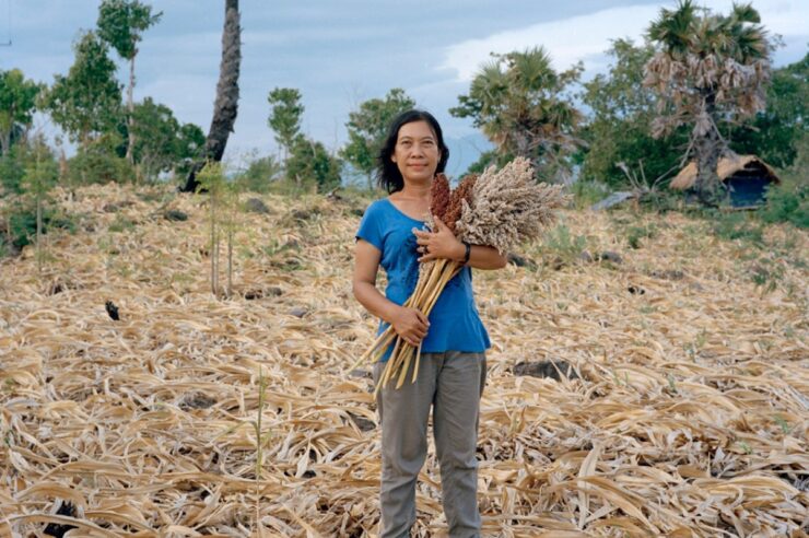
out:
M384 363L374 365L374 382ZM377 396L382 423L382 523L379 538L409 537L415 523L415 481L427 454L427 418L441 465L444 514L450 537L480 536L478 421L486 375L484 353L424 353L401 388L396 379Z

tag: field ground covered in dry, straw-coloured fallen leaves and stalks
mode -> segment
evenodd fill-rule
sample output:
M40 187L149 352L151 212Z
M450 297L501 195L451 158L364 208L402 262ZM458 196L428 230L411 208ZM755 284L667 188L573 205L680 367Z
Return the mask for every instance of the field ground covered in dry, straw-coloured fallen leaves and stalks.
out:
M375 535L379 432L350 372L375 327L350 284L367 201L265 197L214 299L203 197L57 198L78 230L44 274L31 247L0 261L0 536ZM476 271L485 536L807 536L809 235L710 229L568 211L536 266ZM515 367L560 360L572 378ZM419 536L446 528L432 454Z

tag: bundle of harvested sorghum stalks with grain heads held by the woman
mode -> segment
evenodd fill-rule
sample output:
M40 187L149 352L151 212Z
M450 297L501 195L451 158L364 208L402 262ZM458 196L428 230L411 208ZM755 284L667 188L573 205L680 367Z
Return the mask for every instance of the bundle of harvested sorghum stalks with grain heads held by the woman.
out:
M553 222L554 210L567 201L561 186L537 184L534 177L530 163L521 157L501 171L491 166L480 177L468 176L452 192L442 174L433 182L431 213L445 222L460 241L492 246L505 254L515 245L538 237L542 229ZM450 259L423 264L415 290L403 306L430 316L442 291L461 268L461 262ZM407 343L392 326L379 335L357 364L368 358L380 359L391 344L394 349L375 394L392 378L397 379L396 388L401 387L413 356L411 383L415 382L421 346L417 349Z

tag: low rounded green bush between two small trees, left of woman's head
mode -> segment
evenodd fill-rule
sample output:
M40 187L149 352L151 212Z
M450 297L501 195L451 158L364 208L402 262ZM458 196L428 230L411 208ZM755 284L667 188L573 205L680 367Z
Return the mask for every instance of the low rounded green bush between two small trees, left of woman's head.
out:
M324 144L298 134L286 160L286 179L298 188L314 182L317 190L327 191L340 185L340 166Z

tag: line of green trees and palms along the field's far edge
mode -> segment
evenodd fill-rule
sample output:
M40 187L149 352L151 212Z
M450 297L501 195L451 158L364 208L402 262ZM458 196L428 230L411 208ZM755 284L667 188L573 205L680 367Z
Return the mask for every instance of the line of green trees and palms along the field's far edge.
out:
M237 8L235 0L227 2L228 9ZM69 188L153 183L165 175L181 182L206 159L221 160L237 90L227 105L233 117L216 143L199 126L180 122L168 106L132 97L139 44L161 16L139 0L104 0L97 27L74 43L67 74L48 85L17 69L0 71L4 192L22 194L25 171L43 160L54 163L47 167L56 174L54 182ZM237 36L238 21L234 24ZM720 195L716 162L727 152L755 153L779 168L801 159L809 55L773 69L774 48L751 5L736 4L723 14L682 0L661 10L643 43L612 42L605 73L583 82L581 63L558 71L541 46L496 55L449 112L470 118L494 147L470 172L525 156L538 179L620 188L628 182L626 166L664 177L693 160L697 190L711 201ZM112 49L129 67L126 98ZM228 84L235 86L237 74L238 65ZM348 171L373 188L388 124L417 105L401 89L361 103L345 124L348 141L329 150L303 132L305 107L297 89L274 87L267 100L268 128L280 151L259 150L237 174L242 185L259 191L329 191ZM60 140L48 147L42 133L32 132L35 112L51 118L75 145L74 155L63 155Z

